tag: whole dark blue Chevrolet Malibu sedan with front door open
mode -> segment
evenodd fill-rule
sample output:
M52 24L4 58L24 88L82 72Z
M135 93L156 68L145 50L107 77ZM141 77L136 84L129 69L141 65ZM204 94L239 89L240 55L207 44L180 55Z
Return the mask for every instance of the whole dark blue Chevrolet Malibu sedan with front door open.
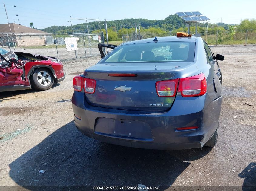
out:
M79 131L137 148L216 144L222 104L217 60L224 56L214 56L201 37L155 37L98 47L102 59L73 79Z

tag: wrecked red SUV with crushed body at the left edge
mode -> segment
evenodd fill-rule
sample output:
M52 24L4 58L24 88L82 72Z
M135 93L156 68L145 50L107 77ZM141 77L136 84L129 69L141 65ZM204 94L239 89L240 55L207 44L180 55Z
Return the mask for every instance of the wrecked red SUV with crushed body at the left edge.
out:
M64 80L59 59L0 48L0 92L13 90L48 90Z

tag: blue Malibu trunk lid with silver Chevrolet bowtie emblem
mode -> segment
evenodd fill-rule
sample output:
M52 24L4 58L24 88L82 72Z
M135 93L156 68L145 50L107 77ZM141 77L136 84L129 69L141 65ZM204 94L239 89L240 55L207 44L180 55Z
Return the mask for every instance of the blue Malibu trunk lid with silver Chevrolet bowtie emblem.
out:
M156 82L200 73L194 63L96 64L83 77L96 80L95 93L85 94L90 105L125 110L170 109L175 97L159 97ZM113 75L114 76L111 76ZM132 75L132 76L127 76Z

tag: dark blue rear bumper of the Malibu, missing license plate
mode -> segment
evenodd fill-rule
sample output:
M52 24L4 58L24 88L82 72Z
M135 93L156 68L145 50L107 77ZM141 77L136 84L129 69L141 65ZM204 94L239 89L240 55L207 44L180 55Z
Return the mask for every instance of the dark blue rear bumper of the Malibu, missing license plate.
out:
M75 125L84 135L111 144L149 149L202 148L218 127L222 103L222 98L212 102L207 94L190 98L177 95L169 111L141 112L93 107L88 105L83 95L83 92L74 92L72 107L74 114L81 118L74 117ZM145 123L148 124L152 136L147 139L114 135L110 123L104 127L107 130L102 131L103 128L97 128L99 119ZM176 130L177 127L188 126L198 126L199 129ZM131 129L136 128L131 127Z

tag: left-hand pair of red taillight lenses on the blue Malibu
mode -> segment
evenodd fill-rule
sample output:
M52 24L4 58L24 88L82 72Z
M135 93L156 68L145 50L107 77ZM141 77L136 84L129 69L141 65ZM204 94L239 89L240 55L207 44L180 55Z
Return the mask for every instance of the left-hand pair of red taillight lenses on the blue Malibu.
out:
M75 91L82 91L84 88L85 93L93 94L95 92L96 80L83 78L80 75L73 78L73 88Z

